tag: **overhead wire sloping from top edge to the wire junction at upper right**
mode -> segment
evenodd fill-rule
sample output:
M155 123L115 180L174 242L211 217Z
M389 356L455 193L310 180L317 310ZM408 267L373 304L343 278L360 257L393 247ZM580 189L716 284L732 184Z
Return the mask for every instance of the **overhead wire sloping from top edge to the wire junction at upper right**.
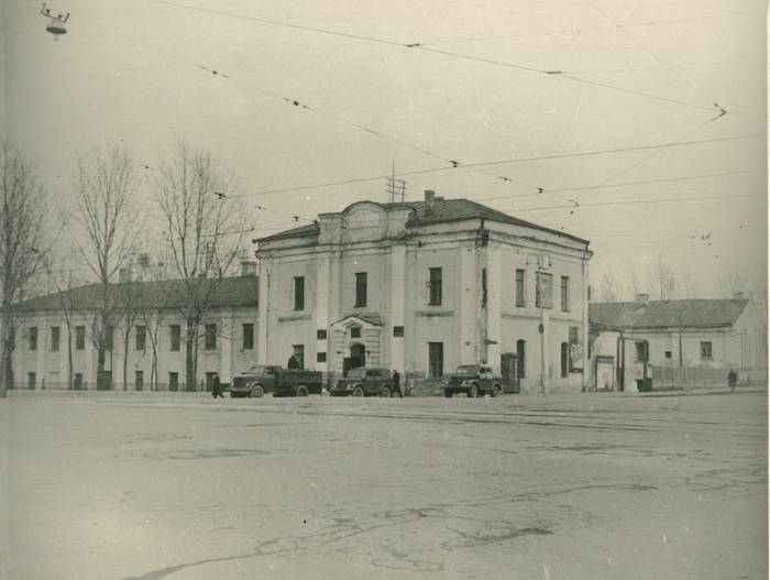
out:
M482 57L476 57L476 56L472 56L472 55L468 55L468 54L462 54L462 53L454 53L454 52L450 52L450 51L440 51L440 50L437 50L437 48L430 48L430 46L429 46L430 43L421 43L421 42L404 43L404 42L396 42L396 41L380 39L380 37L376 37L376 36L367 36L367 35L363 35L363 34L350 34L350 33L343 33L343 32L333 31L333 30L329 30L329 29L321 29L321 28L317 28L317 26L304 26L304 25L292 24L292 23L288 23L288 22L283 22L283 21L277 21L277 20L260 19L260 18L256 18L256 17L246 17L246 15L244 15L244 14L237 14L237 13L233 13L233 12L226 12L226 11L219 11L219 10L211 10L211 9L207 9L207 8L193 7L193 6L189 6L189 4L179 4L179 3L176 3L176 2L170 2L170 1L168 1L168 0L144 0L144 1L145 1L145 2L155 3L155 4L160 4L160 6L173 7L173 8L177 8L177 9L182 9L182 10L191 10L191 11L196 11L196 12L204 12L204 13L217 14L217 15L224 17L224 18L233 18L233 19L239 19L239 20L249 20L249 21L260 22L260 23L268 24L268 25L273 25L273 26L284 26L284 28L289 28L289 29L295 29L295 30L301 30L301 31L305 31L305 32L314 32L314 33L317 33L317 34L327 34L327 35L332 35L332 36L342 36L342 37L348 37L348 39L351 39L351 40L356 40L356 41L362 41L362 42L370 42L370 43L376 43L376 44L383 44L383 45L387 45L387 46L396 46L396 47L400 47L400 48L413 48L413 50L417 50L417 51L421 51L421 52L426 52L426 53L440 54L440 55L443 55L443 56L450 56L450 57L454 57L454 58L462 58L462 59L468 59L468 61L474 61L474 62L480 62L480 63L492 64L492 65L496 65L496 66L503 66L503 67L507 67L507 68L514 68L514 69L518 69L518 70L525 70L525 72L532 73L532 74L539 74L539 75L551 76L551 77L559 77L559 78L562 78L562 79L572 80L572 81L574 81L574 83L582 83L582 84L585 84L585 85L592 85L592 86L595 86L595 87L602 87L602 88L609 89L609 90L616 90L616 91L619 91L619 92L625 92L625 94L629 94L629 95L636 95L636 96L638 96L638 97L646 97L646 98L649 98L649 99L657 99L657 100L661 100L661 101L671 102L671 103L674 103L674 105L680 105L680 106L683 106L683 107L691 107L691 108L694 108L694 109L714 111L714 107L706 107L706 106L703 106L703 105L697 105L697 103L693 103L693 102L688 102L688 101L683 101L683 100L679 100L679 99L674 99L674 98L670 98L670 97L664 97L664 96L661 96L661 95L654 95L654 94L650 94L650 92L645 92L645 91L640 91L640 90L627 89L627 88L618 87L618 86L616 86L616 85L610 85L610 84L607 84L607 83L598 83L598 81L594 81L594 80L588 80L588 79L584 79L584 78L580 78L580 77L572 76L572 75L570 75L570 74L564 74L564 73L562 73L561 70L544 70L544 69L541 69L541 68L531 67L531 66L526 66L526 65L518 65L518 64L514 64L514 63L504 63L504 62L502 62L502 61L492 61L492 59L490 59L490 58L482 58Z

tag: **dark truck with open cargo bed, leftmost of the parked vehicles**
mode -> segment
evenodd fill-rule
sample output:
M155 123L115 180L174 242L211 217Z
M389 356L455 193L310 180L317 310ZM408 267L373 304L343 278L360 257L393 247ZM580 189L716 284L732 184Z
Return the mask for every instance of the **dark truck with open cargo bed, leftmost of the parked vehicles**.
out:
M320 371L284 369L274 364L256 364L242 372L230 385L231 397L308 396L320 394L323 376Z

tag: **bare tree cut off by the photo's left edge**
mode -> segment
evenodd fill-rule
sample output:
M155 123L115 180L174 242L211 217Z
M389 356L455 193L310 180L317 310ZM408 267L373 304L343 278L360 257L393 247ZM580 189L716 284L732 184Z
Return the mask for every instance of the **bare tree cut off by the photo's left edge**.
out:
M0 206L0 397L13 386L13 350L18 329L16 305L44 271L46 242L45 194L29 162L8 142L0 145L2 200Z

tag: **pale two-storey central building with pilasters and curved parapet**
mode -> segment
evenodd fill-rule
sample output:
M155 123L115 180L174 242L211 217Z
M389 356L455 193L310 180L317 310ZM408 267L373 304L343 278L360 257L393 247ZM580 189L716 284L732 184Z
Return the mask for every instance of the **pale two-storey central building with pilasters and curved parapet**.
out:
M258 361L439 379L484 362L525 389L544 363L580 391L588 242L468 199L360 201L260 240Z

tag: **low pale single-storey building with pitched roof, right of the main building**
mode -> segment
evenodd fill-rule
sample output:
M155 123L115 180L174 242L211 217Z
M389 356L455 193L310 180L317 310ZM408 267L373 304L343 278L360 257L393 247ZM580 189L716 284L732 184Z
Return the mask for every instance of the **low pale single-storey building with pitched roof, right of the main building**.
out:
M732 299L649 300L590 305L592 384L638 391L767 384L767 326L741 295ZM647 380L647 384L645 381Z

